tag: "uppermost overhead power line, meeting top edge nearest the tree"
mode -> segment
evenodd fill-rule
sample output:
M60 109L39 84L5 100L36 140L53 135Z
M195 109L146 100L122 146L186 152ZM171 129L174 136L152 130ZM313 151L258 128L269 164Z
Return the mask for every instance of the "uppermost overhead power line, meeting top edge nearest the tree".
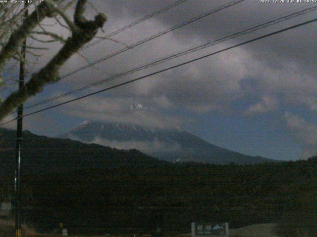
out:
M156 15L158 15L158 14L160 14L160 13L163 13L164 11L167 11L167 10L169 10L169 9L171 9L171 8L173 8L173 7L175 7L175 6L179 5L179 4L181 4L181 3L184 3L184 2L186 2L186 1L188 1L188 0L177 0L177 1L175 1L175 2L173 2L173 3L171 3L171 4L167 5L167 6L165 6L165 7L163 7L163 8L160 8L159 10L157 10L157 11L155 11L155 12L152 12L152 13L150 13L149 15L146 15L146 16L144 16L144 17L138 19L138 20L136 20L136 21L130 23L129 25L126 25L126 26L124 26L124 27L122 27L122 28L119 28L119 29L117 29L117 30L111 32L110 34L108 34L108 35L102 37L102 38L99 39L99 40L96 40L96 41L94 41L94 42L91 42L91 43L89 43L89 44L86 44L84 47L82 47L82 48L79 50L79 52L80 52L80 51L83 51L83 50L85 50L86 48L89 48L89 47L91 47L91 46L93 46L93 45L96 45L97 43L99 43L99 42L101 42L101 41L103 41L103 40L109 39L109 38L112 37L112 36L115 36L115 35L117 35L117 34L123 32L123 31L125 31L125 30L127 30L127 29L129 29L129 28L131 28L131 27L133 27L133 26L135 26L135 25L137 25L137 24L139 24L139 23L141 23L141 22L147 20L147 19L150 19L150 18L152 18L152 17L154 17L154 16L156 16ZM17 78L17 77L18 77L18 76L15 76L15 77L6 79L6 80L4 80L4 82L5 82L5 81L8 81L8 80L11 80L11 79L14 79L14 78Z

